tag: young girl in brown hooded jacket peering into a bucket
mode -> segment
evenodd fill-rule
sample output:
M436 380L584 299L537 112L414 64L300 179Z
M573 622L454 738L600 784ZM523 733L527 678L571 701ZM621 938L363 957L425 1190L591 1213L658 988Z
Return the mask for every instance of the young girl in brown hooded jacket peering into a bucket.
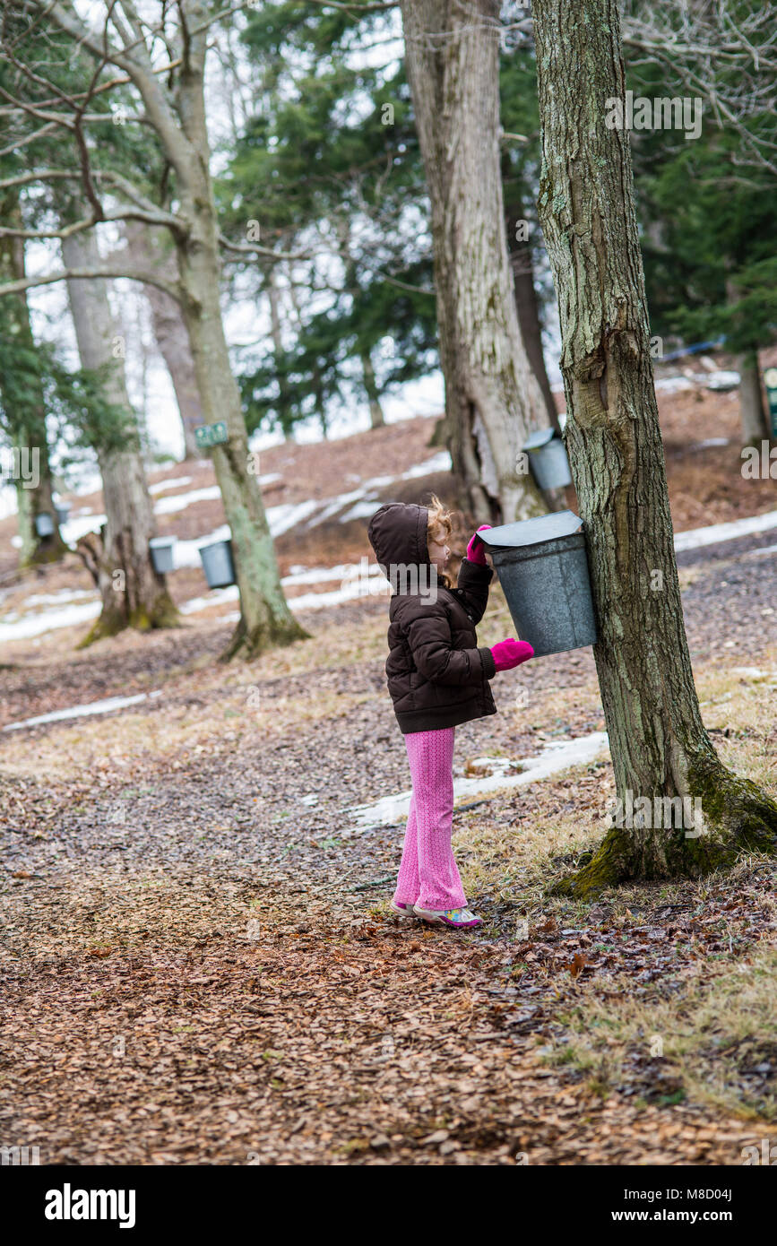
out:
M483 532L488 525L478 528ZM488 601L493 572L476 532L452 587L451 515L431 506L390 502L375 512L370 545L393 589L388 607L386 674L405 735L412 797L405 849L391 907L401 917L479 926L468 908L451 849L453 735L459 723L496 714L488 680L534 655L523 640L477 648L476 623Z

